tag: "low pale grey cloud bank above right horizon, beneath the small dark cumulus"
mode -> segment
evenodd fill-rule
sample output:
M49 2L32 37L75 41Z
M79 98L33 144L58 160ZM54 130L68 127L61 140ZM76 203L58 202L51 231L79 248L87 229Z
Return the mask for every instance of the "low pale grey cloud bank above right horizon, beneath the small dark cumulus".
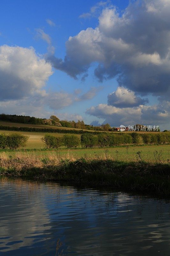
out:
M104 123L112 126L124 125L160 125L169 129L170 104L167 101L153 106L139 106L134 108L116 108L107 104L99 104L86 110L86 114L103 118Z

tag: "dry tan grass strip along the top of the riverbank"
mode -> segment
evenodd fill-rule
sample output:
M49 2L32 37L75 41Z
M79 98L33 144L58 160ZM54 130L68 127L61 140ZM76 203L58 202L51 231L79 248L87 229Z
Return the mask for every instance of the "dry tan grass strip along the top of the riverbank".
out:
M133 159L133 162L141 162L140 152L137 152L136 156ZM95 155L86 155L83 156L84 160L92 161L92 160L118 160L116 155L108 154L108 150L105 150L105 153L95 154ZM71 151L68 151L67 154L62 155L57 152L49 152L46 155L39 154L36 155L28 152L15 152L12 156L10 152L2 152L0 153L0 168L3 170L15 169L17 171L27 170L30 168L48 168L62 165L63 162L74 162L76 160L81 161L82 158L80 156L72 154ZM124 159L126 162L131 162L128 158ZM165 160L161 157L157 157L155 159L148 158L148 163L161 163L166 164L169 163L169 159Z

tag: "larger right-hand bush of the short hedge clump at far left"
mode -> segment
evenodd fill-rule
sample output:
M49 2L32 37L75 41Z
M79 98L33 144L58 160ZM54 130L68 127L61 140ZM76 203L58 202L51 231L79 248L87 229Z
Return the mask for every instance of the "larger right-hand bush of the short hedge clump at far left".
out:
M25 136L18 133L7 134L6 143L7 147L10 149L17 149L19 147L25 147L26 141L29 139L29 136Z

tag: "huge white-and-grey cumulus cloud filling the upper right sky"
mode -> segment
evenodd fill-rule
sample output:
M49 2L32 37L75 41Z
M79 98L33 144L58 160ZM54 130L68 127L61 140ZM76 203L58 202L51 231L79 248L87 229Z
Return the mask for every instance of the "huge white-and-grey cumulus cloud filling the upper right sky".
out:
M87 28L66 42L64 60L48 60L77 78L92 62L98 80L117 76L120 86L167 98L170 81L170 1L137 0L122 13L106 8L95 29Z

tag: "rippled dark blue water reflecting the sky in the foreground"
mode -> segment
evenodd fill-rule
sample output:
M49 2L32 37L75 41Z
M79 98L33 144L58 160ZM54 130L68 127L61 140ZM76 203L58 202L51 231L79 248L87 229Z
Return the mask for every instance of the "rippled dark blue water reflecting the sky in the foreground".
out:
M0 255L169 256L168 200L0 179Z

